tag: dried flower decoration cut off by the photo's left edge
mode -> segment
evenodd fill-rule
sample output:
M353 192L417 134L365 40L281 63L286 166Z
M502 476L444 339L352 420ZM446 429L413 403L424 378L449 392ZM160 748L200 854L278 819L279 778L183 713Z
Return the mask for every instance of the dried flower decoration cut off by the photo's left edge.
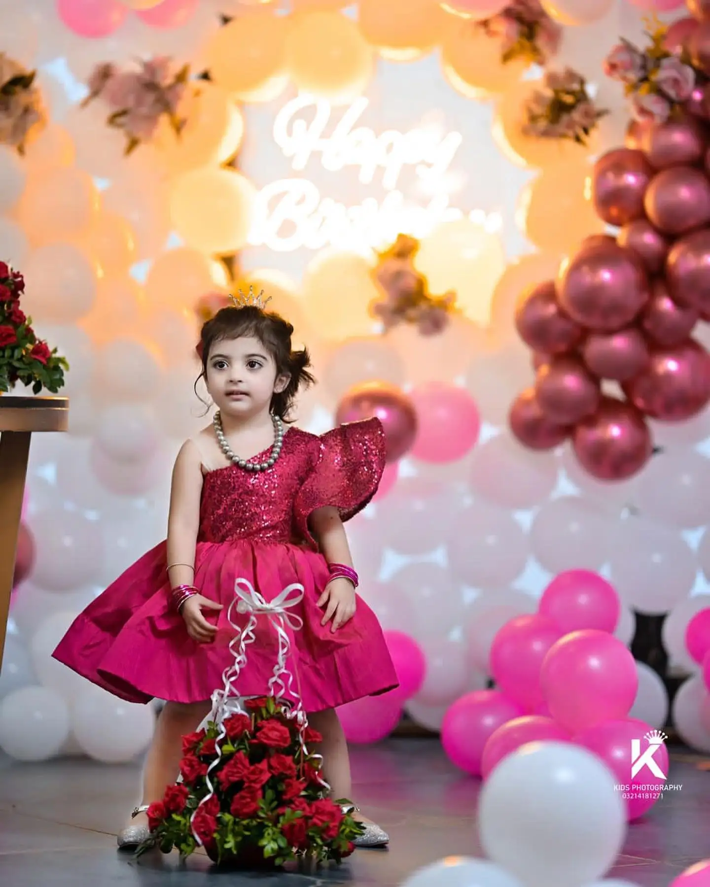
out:
M47 122L35 77L36 71L0 52L0 143L20 154Z

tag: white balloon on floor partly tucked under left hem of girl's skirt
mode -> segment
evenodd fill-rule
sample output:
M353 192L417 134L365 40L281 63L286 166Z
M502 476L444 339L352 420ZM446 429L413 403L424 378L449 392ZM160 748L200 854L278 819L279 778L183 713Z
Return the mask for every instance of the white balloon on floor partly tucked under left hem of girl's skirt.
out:
M139 755L153 737L150 705L126 703L99 687L86 687L75 700L72 731L89 757L123 764Z

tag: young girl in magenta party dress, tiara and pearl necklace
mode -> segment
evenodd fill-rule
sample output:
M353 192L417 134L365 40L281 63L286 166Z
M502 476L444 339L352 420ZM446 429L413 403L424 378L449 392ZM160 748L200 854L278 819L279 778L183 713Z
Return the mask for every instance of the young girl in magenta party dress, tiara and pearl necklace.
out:
M202 327L202 375L217 412L177 455L167 543L94 600L54 652L129 702L167 700L146 758L143 797L118 836L120 847L148 836L146 809L177 779L181 737L209 714L232 664L226 611L235 579L248 579L266 600L294 582L304 586L295 608L304 626L291 634L289 668L323 736L319 753L333 797L351 797L335 709L398 686L377 618L355 593L343 530L380 483L382 425L354 422L321 437L284 428L296 392L312 381L308 353L291 350L293 327L260 299L233 301ZM275 644L266 628L249 648L241 695L265 694ZM359 846L389 843L382 828L359 819L366 827Z

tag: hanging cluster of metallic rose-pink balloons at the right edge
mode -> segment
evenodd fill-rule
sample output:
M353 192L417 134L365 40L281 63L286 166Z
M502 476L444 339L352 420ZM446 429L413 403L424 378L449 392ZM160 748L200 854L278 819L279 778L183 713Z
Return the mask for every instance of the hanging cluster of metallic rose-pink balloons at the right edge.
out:
M517 305L537 376L509 415L533 449L570 438L604 481L650 459L649 418L681 422L710 401L710 356L691 336L710 318L710 134L683 114L632 125L627 142L592 175L596 212L617 236L588 238Z

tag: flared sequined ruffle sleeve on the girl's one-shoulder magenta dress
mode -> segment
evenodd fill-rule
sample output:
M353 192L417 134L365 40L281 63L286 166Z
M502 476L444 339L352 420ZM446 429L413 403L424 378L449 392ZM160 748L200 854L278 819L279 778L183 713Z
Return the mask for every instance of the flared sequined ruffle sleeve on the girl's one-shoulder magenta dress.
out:
M308 519L323 506L334 506L349 521L377 492L383 476L385 440L382 422L366 419L333 428L319 438L318 458L296 495L296 526L315 545Z

